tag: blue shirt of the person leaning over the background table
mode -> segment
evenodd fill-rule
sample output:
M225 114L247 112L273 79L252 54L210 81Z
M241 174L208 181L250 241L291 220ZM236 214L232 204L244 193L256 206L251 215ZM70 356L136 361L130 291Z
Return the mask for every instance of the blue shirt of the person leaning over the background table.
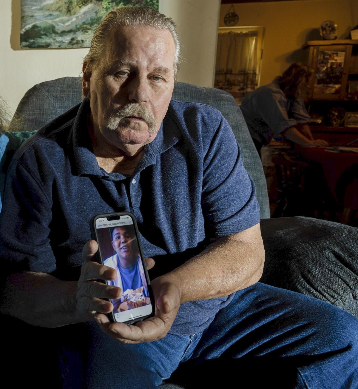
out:
M264 145L282 138L286 128L311 121L302 98L287 98L275 81L250 92L240 109L251 137Z

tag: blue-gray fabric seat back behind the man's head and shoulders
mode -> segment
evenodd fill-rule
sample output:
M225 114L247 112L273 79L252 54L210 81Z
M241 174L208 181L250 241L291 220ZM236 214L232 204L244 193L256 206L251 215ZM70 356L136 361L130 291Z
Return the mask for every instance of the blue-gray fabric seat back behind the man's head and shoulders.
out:
M240 144L244 166L254 180L256 198L260 204L260 217L261 219L270 217L269 197L261 161L234 98L220 89L200 88L184 82L175 83L173 98L183 102L204 103L221 111ZM21 130L38 130L81 100L82 79L62 77L41 82L25 93L15 117L23 119ZM10 124L11 131L15 130L13 123Z

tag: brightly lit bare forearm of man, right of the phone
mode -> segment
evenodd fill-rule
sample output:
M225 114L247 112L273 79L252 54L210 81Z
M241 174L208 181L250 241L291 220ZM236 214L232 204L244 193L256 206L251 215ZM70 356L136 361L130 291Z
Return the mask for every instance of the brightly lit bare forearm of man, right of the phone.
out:
M227 296L258 282L265 259L260 225L240 234L220 238L163 276L178 285L181 303Z

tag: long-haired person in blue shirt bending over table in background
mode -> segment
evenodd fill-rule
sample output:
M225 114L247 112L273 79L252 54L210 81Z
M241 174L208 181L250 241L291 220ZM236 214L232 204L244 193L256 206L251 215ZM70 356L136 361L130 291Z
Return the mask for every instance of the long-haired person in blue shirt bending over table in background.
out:
M322 139L313 139L311 121L302 99L311 72L301 63L293 63L281 77L260 86L241 102L240 109L258 153L274 138L286 138L303 147L325 147Z

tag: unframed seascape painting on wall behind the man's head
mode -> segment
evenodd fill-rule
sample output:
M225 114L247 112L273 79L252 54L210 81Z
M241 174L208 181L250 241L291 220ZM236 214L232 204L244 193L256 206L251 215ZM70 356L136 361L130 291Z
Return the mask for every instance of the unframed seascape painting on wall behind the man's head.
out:
M107 12L125 5L159 0L21 0L22 48L90 47L93 33Z

